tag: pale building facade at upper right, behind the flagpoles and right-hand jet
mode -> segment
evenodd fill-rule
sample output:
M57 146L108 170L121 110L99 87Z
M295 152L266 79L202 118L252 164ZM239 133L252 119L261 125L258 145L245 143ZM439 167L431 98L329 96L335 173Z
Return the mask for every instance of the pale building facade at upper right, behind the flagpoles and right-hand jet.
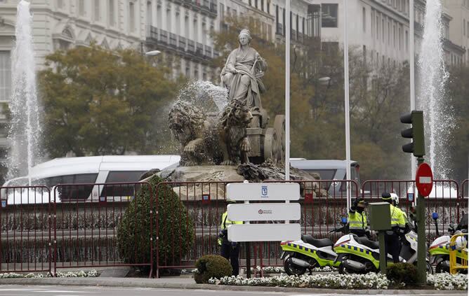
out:
M343 45L343 0L312 2L321 5L322 42ZM415 50L418 55L425 22L425 0L414 1L414 15ZM374 64L402 63L409 59L409 0L349 0L348 20L349 44L361 48ZM442 13L443 44L448 64L462 61L465 53L464 48L451 42L449 24L453 20L448 13Z

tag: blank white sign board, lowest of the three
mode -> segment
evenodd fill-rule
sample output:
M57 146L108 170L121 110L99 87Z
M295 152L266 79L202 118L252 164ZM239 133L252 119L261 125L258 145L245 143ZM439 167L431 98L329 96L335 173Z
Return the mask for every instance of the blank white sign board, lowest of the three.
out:
M228 225L229 241L297 241L300 224L233 224Z

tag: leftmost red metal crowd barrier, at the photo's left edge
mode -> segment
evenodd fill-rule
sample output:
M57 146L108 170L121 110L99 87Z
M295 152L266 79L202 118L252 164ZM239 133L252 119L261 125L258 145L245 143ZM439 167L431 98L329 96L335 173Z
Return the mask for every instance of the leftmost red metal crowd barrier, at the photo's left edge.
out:
M0 272L50 272L53 230L48 188L0 188Z

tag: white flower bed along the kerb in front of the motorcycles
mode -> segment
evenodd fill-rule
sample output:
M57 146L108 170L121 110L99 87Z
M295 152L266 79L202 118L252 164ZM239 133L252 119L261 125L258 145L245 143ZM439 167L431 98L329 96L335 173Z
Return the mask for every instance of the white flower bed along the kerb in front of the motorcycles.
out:
M260 269L260 268L259 268ZM269 286L289 288L335 288L335 289L388 289L390 281L382 274L313 274L287 276L280 274L269 278L245 279L242 276L225 276L210 279L209 283L227 286ZM467 290L465 274L428 274L427 284L436 290ZM400 288L403 288L401 286Z

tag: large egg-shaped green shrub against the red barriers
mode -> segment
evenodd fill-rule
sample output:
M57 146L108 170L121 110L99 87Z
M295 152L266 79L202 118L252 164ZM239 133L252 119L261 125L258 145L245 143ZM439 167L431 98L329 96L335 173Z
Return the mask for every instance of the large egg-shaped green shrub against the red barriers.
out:
M163 180L158 176L150 178L148 183L153 195L157 192L157 185ZM168 186L158 187L157 202L152 200L150 209L150 190L143 185L136 198L128 204L117 229L119 252L124 262L136 264L150 262L150 237L159 243L159 265L178 264L188 253L194 242L194 221L188 215L184 204L178 195ZM150 234L150 210L153 212L152 233ZM158 216L159 239L157 241L157 225L155 215ZM153 252L153 267L157 267L156 249Z

